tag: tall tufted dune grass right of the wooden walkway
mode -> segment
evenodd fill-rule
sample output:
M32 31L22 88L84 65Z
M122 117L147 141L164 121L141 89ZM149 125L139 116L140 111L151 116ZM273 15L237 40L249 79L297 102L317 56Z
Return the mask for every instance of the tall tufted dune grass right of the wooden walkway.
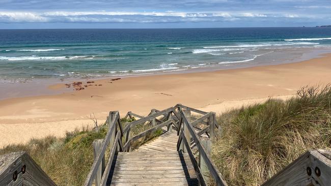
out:
M331 87L303 87L218 117L212 160L229 185L260 185L309 149L331 147Z

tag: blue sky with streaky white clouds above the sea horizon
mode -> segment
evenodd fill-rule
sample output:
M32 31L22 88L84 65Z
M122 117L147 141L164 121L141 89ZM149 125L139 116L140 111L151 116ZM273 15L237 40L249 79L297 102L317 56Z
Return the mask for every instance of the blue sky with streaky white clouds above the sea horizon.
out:
M0 29L330 24L330 0L0 0Z

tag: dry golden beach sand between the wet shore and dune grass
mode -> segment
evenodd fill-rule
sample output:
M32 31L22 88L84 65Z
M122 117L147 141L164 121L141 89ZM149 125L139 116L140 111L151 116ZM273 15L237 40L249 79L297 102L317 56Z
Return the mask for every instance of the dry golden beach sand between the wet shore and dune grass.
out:
M327 54L293 64L83 81L93 85L79 91L54 84L49 89L61 94L0 101L0 146L47 135L63 137L66 131L93 126L92 113L102 123L112 110L122 117L127 111L146 115L152 108L181 103L220 114L269 97L285 100L302 86L329 83L330 70Z

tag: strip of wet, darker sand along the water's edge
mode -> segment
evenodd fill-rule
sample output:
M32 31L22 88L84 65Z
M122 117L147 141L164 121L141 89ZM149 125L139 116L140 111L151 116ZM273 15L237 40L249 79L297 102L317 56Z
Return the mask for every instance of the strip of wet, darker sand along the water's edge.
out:
M72 83L72 82L84 82L84 81L100 81L105 79L113 78L135 78L142 76L158 76L158 75L173 75L173 74L191 74L191 73L208 73L217 71L227 71L235 69L247 69L254 67L267 67L267 66L277 66L285 64L295 64L301 61L306 61L314 58L320 58L331 53L330 49L307 49L306 52L302 53L300 57L286 59L282 61L273 61L272 64L266 63L236 63L234 65L229 64L229 66L215 66L215 67L201 67L201 68L188 68L182 69L180 71L167 71L167 72L152 72L144 74L126 74L126 75L104 75L100 77L73 77L73 78L23 78L23 79L5 79L0 80L0 101L11 99L11 98L23 98L23 97L35 97L35 96L45 96L45 95L58 95L64 92L70 92L68 89L53 88L57 87L54 85L62 83ZM267 59L264 59L267 60ZM15 82L16 81L16 82Z

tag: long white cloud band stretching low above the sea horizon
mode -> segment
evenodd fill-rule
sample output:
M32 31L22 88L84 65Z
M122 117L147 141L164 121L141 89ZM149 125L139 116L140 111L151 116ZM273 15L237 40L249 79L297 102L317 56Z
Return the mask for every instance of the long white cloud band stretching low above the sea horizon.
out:
M0 12L2 23L24 22L85 22L85 23L168 23L168 22L222 22L241 18L302 18L296 14L265 14L255 12L120 12L120 11L53 11Z

